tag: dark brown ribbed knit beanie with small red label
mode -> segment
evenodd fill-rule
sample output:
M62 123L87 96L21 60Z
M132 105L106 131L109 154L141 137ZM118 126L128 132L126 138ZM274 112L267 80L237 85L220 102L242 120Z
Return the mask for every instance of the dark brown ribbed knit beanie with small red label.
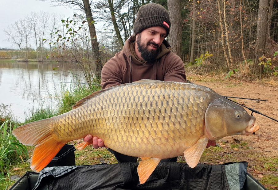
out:
M133 24L133 31L136 35L144 29L153 26L163 27L167 32L166 36L168 36L171 23L169 14L163 6L156 3L149 3L139 8L137 17Z

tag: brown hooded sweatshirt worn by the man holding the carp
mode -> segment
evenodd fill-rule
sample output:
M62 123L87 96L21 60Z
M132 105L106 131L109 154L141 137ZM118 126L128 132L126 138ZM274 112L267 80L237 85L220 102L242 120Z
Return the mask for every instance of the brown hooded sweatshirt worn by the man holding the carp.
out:
M171 47L166 40L161 44L153 62L140 60L134 48L135 36L132 35L125 42L123 50L104 64L101 71L102 89L141 79L186 82L182 59L170 51Z

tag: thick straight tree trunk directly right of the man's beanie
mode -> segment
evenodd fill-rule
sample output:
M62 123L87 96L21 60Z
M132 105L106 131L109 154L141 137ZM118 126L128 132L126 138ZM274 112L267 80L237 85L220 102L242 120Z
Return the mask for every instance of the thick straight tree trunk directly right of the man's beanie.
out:
M167 1L168 13L170 16L171 28L168 36L168 41L173 53L182 58L182 16L181 16L181 1Z

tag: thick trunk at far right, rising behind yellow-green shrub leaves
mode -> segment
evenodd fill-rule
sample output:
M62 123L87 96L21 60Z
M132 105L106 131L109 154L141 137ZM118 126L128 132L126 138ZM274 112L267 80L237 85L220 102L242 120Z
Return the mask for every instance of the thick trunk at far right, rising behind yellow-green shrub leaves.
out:
M257 21L257 34L255 45L255 60L254 60L254 74L262 74L262 68L258 65L259 57L265 53L266 34L267 34L267 22L268 18L268 0L260 0L259 13Z

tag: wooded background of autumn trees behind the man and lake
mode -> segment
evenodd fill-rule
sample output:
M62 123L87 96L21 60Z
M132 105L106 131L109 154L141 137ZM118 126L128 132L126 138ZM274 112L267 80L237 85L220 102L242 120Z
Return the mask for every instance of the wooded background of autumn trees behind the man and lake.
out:
M88 83L133 34L140 6L155 2L170 15L166 40L194 72L220 70L227 76L268 77L278 74L278 2L274 0L43 0L75 8L70 18L32 12L5 29L18 51L2 48L0 58L76 63ZM104 23L104 32L95 24ZM36 48L31 48L31 42Z

